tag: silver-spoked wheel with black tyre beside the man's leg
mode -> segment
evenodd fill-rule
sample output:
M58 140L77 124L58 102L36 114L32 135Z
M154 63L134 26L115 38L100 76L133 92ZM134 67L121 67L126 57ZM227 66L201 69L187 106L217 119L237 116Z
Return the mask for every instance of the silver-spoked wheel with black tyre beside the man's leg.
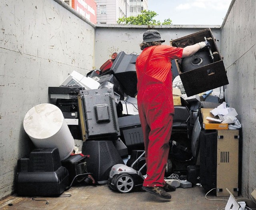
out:
M129 174L123 174L117 178L115 185L118 192L127 193L132 191L134 180Z

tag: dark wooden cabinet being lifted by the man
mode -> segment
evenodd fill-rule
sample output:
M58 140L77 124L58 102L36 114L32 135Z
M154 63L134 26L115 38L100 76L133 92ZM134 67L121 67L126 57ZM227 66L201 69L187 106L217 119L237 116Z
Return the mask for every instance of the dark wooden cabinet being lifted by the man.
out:
M170 45L184 48L198 42L203 42L205 41L205 38L211 44L211 53L208 48L204 48L197 52L198 55L195 54L193 55L194 57L187 57L187 60L184 58L181 61L175 60L180 79L188 97L228 84L228 77L226 75L223 59L216 46L215 38L212 35L210 28L172 40L170 41ZM203 52L207 50L209 52L208 54L207 52ZM203 57L200 53L204 53L206 57ZM191 70L188 71L188 69L186 69L184 72L182 62L184 63L185 61L188 61L188 59L191 59L191 61L189 61ZM194 61L196 62L198 59L201 59L202 62L194 63Z

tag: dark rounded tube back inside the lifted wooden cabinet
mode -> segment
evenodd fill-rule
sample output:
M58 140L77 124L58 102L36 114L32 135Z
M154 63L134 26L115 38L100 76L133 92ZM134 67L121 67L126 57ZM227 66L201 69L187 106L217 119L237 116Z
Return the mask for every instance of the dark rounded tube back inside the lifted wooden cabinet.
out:
M212 63L212 59L210 57L210 53L207 51L197 52L190 57L184 57L181 61L181 69L182 73L186 71L191 71L193 69L198 69L204 65L208 65Z

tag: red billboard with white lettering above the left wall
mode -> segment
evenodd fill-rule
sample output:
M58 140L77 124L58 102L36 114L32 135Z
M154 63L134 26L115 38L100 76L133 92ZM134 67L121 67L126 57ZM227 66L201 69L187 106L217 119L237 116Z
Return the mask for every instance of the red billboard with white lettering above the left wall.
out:
M84 16L90 22L96 24L96 10L97 5L94 0L72 0L72 8L74 8L79 14Z

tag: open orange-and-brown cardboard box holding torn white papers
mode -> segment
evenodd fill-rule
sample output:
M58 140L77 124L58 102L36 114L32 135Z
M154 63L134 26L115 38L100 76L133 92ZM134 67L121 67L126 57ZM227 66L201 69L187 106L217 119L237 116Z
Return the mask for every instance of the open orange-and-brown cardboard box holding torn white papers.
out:
M206 117L214 117L212 113L210 113L212 109L201 109L202 117L203 117L203 128L204 129L210 129L210 130L227 130L228 129L228 123L209 123L209 121L206 119Z

